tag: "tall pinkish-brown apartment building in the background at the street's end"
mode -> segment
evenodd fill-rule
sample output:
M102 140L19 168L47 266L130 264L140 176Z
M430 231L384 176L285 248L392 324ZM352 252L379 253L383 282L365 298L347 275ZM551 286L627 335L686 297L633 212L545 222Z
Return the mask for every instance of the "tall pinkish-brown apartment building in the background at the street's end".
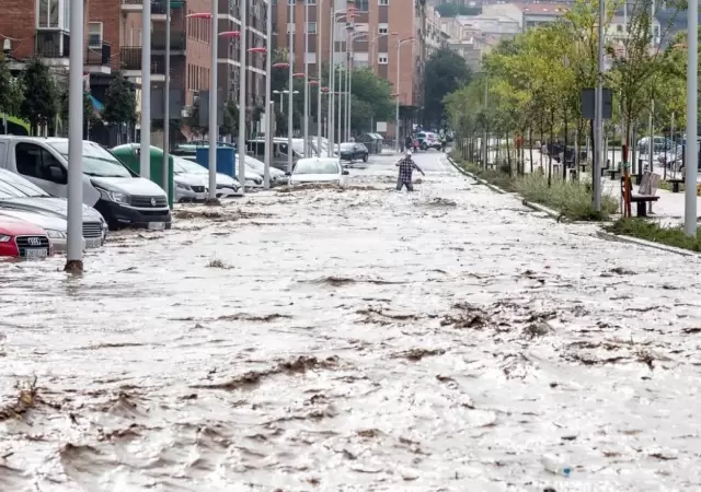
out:
M309 2L308 5L307 2ZM273 2L273 20L276 25L275 31L278 33L274 40L275 46L289 48L289 33L290 31L294 33L294 71L303 71L303 63L307 60L309 73L311 77L318 77L319 68L332 59L330 25L333 10L336 13L333 39L334 62L345 65L346 51L352 52L354 67L368 67L378 77L392 83L400 101L402 119L407 121L421 110L427 54L425 0L307 0L307 2L304 0ZM309 7L309 16L306 23L307 7ZM306 32L309 33L307 52L304 51ZM319 52L318 36L321 40ZM398 55L398 40L412 36L415 40L404 43Z

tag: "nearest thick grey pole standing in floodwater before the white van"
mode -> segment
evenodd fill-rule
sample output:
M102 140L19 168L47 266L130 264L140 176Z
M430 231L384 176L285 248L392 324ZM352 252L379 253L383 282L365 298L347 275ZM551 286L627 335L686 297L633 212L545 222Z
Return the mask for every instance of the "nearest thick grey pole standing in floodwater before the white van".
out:
M68 251L65 270L80 273L83 271L83 23L85 19L83 0L71 0L70 9L71 70L68 73L68 105L71 117L68 120L70 165L68 166Z

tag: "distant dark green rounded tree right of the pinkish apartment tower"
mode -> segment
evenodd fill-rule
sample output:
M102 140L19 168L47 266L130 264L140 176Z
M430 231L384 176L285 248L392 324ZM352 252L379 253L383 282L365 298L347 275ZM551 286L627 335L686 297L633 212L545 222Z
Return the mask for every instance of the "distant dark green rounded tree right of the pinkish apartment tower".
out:
M452 49L439 49L426 61L425 108L428 125L439 125L444 119L443 99L470 82L472 74L464 58Z

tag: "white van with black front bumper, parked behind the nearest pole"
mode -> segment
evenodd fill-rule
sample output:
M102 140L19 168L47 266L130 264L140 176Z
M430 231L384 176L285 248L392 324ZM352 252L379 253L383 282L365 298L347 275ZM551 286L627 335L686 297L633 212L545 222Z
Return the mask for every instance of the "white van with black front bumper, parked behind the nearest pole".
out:
M168 196L100 144L83 141L83 202L120 226L170 229ZM54 197L68 197L68 139L0 136L0 167Z

